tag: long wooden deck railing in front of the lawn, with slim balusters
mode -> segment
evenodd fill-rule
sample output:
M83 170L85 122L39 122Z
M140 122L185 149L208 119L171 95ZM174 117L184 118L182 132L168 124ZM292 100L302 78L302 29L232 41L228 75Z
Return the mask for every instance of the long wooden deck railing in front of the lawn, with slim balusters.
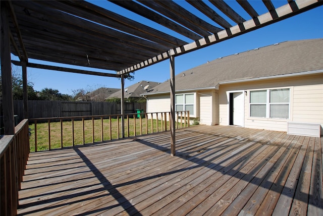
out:
M189 127L189 111L175 112L178 128ZM125 114L124 136L170 130L170 112ZM50 150L122 138L122 116L97 115L82 117L29 119L30 150ZM44 123L45 121L45 123ZM42 123L39 123L42 122Z

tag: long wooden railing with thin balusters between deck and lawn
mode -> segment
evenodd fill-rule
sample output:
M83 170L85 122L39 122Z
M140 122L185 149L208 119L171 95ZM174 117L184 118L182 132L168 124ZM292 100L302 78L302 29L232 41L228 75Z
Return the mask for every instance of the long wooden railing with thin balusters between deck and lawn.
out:
M188 111L176 112L177 119L175 121L177 121L177 128L189 127L188 115L189 115ZM137 136L139 134L143 135L148 133L167 131L169 130L168 129L169 124L167 122L170 120L170 116L171 116L170 112L125 114L124 121L126 122L124 125L125 127L127 127L127 129L125 130L125 132L127 133L125 134L125 137ZM129 122L129 119L131 118L133 118L133 121ZM146 120L143 121L143 118L146 118ZM151 119L151 121L148 121L147 118ZM87 127L84 126L85 119L88 119L89 122L91 122L91 126L90 124ZM112 119L116 119L117 123L115 123L115 121L112 122ZM32 134L32 138L34 138L34 143L35 143L35 151L39 150L39 148L41 150L45 150L45 149L49 150L52 148L64 148L65 146L74 146L79 144L84 145L87 143L94 143L94 142L100 142L100 141L102 142L102 141L112 140L116 138L120 139L122 137L120 135L121 119L122 119L121 114L30 119L30 122L34 122L34 126L35 126L35 131ZM79 128L79 129L76 128L76 125L78 122L77 120L82 121L82 128ZM106 120L108 120L108 122ZM64 135L67 133L66 124L65 124L64 134L63 134L63 122L66 122L66 121L72 122L72 126L68 125L69 128L72 127L71 128L72 134L71 132L68 132L69 134L71 134L72 140L69 136ZM37 127L37 124L39 124L39 122L48 124L48 126L46 127L47 128L46 130L48 130L46 131L46 133L48 134L48 137L44 141L39 141L38 136L41 134L39 131L40 127L39 126ZM61 137L61 140L53 140L50 138L50 136L54 135L53 134L54 132L50 131L52 128L50 124L59 124L55 122L60 122L61 124L61 126L59 127L60 128L59 130L61 130L61 134L58 134L56 136L56 137ZM108 128L108 127L109 127L109 131L104 131L104 128ZM148 129L149 127L151 128L151 130ZM113 130L113 128L115 128L116 130ZM130 130L129 128L133 130ZM91 132L88 133L89 131L87 131L87 133L85 133L85 130L87 129L90 129ZM79 135L76 135L78 133ZM86 139L86 134L88 135L91 134L92 135L91 139L90 137L87 137ZM79 141L81 136L82 136L82 141Z

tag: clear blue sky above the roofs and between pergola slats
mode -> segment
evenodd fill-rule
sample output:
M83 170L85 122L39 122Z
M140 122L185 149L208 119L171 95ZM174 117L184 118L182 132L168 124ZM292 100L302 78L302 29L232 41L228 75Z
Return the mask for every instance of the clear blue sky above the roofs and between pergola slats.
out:
M251 4L257 4L259 2L260 1L251 1ZM107 7L109 8L109 10L115 12L117 11L124 16L128 16L129 18L137 20L138 22L147 22L147 20L139 17L138 15L129 13L128 11L125 11L124 9L119 8L115 5L111 5L112 3L110 2L94 1L92 3ZM287 1L276 1L275 4L285 5L286 3ZM179 4L183 4L183 7L187 7L184 1L179 1ZM262 14L261 11L257 12L259 14ZM207 20L208 18L205 19ZM249 18L247 18L247 20L249 20ZM229 40L186 53L175 58L175 73L179 74L185 70L197 67L199 65L207 63L207 61L212 61L220 57L234 55L238 52L272 45L279 42L288 40L323 38L322 20L323 6L320 6L278 23L274 23L272 25L265 26L263 28L231 38ZM151 25L157 26L157 24L154 23L151 23ZM158 26L158 28L163 30L163 27ZM167 29L165 29L165 31L166 30ZM174 35L174 33L172 34ZM176 36L178 36L179 38L181 37L181 35ZM187 38L181 39L185 39L186 41L188 40ZM12 56L12 59L18 60L18 58L15 56ZM47 64L45 62L37 60L29 60L29 62L37 64ZM105 73L116 73L115 71L89 69L62 64L51 63L50 65ZM165 60L152 66L140 69L134 73L134 77L135 79L133 81L125 81L125 88L137 82L140 82L141 80L164 82L170 78L169 60ZM59 90L59 92L62 94L69 95L72 95L73 92L75 92L77 89L85 89L87 91L90 91L100 87L121 88L121 80L118 78L50 71L35 68L27 68L27 79L33 84L33 88L36 91L41 91L44 88L52 88Z

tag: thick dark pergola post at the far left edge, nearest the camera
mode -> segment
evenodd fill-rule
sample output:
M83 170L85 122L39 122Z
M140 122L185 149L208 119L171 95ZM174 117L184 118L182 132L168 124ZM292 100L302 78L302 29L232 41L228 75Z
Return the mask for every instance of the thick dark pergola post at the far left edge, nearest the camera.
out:
M1 4L1 76L5 135L15 134L14 102L10 56L9 21L6 3Z

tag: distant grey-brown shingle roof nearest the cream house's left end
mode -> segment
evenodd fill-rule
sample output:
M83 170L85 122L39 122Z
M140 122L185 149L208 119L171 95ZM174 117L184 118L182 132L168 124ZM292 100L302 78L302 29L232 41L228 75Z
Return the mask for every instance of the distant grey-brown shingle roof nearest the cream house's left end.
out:
M142 97L140 96L140 94L142 93L146 93L149 91L152 91L153 88L158 85L160 83L158 82L151 82L151 81L140 81L138 83L135 83L129 87L125 88L125 93L124 93L124 97L128 98L128 97ZM144 89L146 87L146 89ZM113 93L112 95L110 95L109 98L113 98L113 97L121 97L121 90L119 89L119 91Z

